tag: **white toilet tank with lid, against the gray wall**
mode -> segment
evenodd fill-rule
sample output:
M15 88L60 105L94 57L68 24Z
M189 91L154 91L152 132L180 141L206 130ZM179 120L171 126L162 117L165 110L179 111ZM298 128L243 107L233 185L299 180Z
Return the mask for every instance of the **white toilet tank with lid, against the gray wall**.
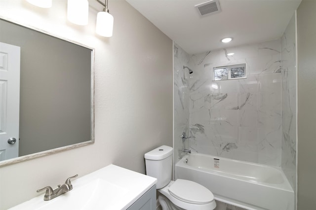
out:
M146 175L157 178L157 189L171 180L172 151L172 147L163 145L145 154Z

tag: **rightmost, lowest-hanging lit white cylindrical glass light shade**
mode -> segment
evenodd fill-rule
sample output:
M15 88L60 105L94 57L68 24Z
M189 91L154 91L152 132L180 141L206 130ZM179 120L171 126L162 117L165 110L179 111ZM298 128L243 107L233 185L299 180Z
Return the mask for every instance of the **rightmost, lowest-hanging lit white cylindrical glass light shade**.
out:
M113 22L114 18L109 12L98 12L95 32L98 35L111 37L113 35Z

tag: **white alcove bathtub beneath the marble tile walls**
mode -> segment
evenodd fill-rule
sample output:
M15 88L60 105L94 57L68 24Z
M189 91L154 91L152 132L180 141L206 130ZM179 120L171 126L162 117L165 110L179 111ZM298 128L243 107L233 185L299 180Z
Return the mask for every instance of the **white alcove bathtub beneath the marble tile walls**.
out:
M248 210L294 210L294 192L280 168L204 154L189 154L176 178L207 187L216 200Z

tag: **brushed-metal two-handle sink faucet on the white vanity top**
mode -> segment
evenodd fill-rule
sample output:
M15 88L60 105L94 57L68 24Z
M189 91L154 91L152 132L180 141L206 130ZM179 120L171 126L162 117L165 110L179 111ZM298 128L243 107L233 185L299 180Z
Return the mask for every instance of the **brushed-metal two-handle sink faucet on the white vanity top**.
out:
M71 176L69 178L66 179L65 183L62 185L58 185L58 187L56 189L53 190L53 188L51 188L50 186L44 187L40 190L37 190L37 192L41 192L43 190L46 190L45 195L44 195L44 201L49 201L51 199L54 199L70 190L73 189L73 185L71 184L70 179L71 178L75 178L78 175L74 175Z

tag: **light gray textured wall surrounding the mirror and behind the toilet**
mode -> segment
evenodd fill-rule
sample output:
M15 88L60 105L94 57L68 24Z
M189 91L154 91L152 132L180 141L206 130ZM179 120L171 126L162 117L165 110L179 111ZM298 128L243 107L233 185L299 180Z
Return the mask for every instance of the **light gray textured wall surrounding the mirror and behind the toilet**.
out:
M50 9L1 0L2 16L95 48L95 143L0 167L1 210L111 163L145 173L144 154L172 146L172 40L123 0L109 0L113 36L98 36L103 7L95 0L89 5L82 27L67 21L67 0L54 0Z

